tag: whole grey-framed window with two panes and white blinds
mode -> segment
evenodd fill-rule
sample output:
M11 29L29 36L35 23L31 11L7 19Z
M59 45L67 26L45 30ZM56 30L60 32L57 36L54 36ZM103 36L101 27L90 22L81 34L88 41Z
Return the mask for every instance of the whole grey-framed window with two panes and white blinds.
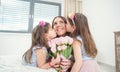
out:
M31 32L40 20L61 15L61 4L40 0L1 0L0 32Z

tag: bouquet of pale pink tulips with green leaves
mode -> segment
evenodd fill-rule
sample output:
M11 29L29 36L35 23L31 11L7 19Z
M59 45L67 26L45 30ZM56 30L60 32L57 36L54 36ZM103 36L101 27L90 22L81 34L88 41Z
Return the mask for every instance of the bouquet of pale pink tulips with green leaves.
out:
M73 39L69 36L58 37L50 40L48 42L48 45L51 48L51 52L52 52L50 56L56 58L57 53L59 53L61 55L61 58L69 59L72 53L72 43L73 43Z

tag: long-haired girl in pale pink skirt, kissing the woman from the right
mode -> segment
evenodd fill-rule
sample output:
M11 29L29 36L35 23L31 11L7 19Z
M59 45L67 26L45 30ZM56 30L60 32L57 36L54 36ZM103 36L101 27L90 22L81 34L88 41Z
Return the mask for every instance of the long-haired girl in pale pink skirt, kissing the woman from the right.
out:
M82 59L79 59L79 62L82 64L80 69L73 64L71 72L74 72L74 70L76 72L100 72L100 68L95 61L97 48L89 30L87 17L82 13L71 13L67 20L67 32L71 32L71 35L78 40L73 45L76 51L80 53L74 52L75 60L82 55Z

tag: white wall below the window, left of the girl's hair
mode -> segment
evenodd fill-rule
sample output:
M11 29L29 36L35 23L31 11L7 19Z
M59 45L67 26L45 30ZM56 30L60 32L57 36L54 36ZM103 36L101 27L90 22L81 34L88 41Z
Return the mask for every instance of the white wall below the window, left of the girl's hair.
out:
M21 55L31 45L31 34L0 33L0 55Z

